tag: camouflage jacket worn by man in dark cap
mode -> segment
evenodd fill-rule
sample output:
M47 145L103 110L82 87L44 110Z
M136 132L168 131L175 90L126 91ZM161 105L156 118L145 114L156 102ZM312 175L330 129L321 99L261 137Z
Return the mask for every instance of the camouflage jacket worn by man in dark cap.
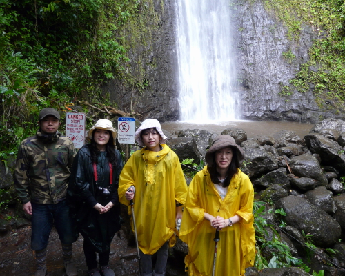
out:
M59 132L37 132L21 142L18 149L14 185L22 204L57 204L66 199L75 146Z

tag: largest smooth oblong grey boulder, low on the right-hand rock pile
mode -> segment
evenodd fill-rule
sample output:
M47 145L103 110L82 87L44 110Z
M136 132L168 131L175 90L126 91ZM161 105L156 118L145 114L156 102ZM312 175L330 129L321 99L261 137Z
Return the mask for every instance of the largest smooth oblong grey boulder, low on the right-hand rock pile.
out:
M275 206L283 208L286 213L286 223L304 233L310 233L316 246L322 248L333 246L340 235L340 225L324 210L311 204L302 197L284 197Z

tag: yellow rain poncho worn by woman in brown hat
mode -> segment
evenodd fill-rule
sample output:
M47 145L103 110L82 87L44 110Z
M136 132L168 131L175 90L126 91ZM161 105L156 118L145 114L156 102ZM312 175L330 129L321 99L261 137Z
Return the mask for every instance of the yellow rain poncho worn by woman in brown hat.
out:
M224 200L215 189L207 167L195 175L188 188L179 238L188 244L185 258L188 275L212 275L215 228L204 213L224 219L239 215L242 221L219 232L215 275L244 275L255 259L253 227L254 190L247 175L238 170L228 186Z

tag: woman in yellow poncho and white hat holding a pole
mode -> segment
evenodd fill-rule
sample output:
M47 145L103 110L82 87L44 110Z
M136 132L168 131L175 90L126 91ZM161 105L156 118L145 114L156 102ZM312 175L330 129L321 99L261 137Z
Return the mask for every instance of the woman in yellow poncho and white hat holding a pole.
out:
M179 158L165 144L156 119L146 119L135 132L141 150L128 159L119 180L119 201L134 201L137 239L144 276L165 275L169 246L175 244L176 220L182 217L187 184ZM128 212L131 209L128 206ZM132 230L133 224L132 224ZM151 256L157 253L155 271Z

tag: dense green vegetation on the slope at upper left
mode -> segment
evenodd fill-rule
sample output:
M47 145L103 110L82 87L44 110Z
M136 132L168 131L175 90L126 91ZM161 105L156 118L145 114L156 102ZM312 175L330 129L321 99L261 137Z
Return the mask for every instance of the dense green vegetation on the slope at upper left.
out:
M1 159L34 134L41 108L66 111L77 99L115 106L101 90L115 78L146 88L128 52L150 39L148 21L158 21L152 0L0 0Z

